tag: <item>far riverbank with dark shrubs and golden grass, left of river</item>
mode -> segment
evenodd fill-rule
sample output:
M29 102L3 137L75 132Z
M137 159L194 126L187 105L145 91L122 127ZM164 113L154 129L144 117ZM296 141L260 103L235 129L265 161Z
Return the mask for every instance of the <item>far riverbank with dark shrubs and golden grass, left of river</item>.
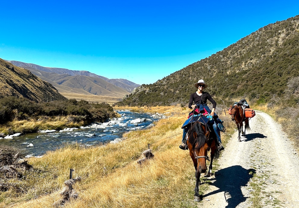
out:
M0 137L80 127L117 116L106 103L75 99L36 103L26 98L6 97L0 99Z

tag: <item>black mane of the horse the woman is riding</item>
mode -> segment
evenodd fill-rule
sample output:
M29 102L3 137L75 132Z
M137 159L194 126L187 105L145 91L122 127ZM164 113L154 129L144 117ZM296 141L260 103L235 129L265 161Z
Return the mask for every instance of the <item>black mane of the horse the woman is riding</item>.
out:
M194 138L193 133L196 132L197 137ZM192 144L193 149L199 150L203 145L207 142L207 138L205 133L203 132L203 128L200 124L200 122L195 122L192 125L192 128L188 131L189 134L189 143ZM198 144L196 147L195 145Z

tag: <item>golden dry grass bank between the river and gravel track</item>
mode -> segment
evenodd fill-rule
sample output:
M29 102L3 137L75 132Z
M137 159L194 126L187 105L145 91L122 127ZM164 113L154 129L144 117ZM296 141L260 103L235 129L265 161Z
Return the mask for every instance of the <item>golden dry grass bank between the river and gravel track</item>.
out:
M24 172L19 181L8 181L15 186L1 193L0 206L53 207L62 197L60 193L71 168L73 178L80 176L81 181L73 185L77 199L71 199L65 207L196 206L193 163L189 152L178 148L181 125L189 109L179 106L130 109L164 113L169 118L157 121L153 128L124 134L126 139L120 143L91 148L74 145L48 152L42 158L29 158L33 170ZM225 144L235 124L228 115L220 113L223 110L217 109L227 128L222 134ZM137 164L148 144L154 158ZM206 181L200 186L203 191L209 181L205 178L201 181Z

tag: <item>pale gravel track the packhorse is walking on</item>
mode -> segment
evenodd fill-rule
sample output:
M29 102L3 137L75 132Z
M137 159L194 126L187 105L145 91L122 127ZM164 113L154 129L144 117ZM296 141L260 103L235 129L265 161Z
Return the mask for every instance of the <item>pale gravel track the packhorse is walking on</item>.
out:
M257 111L249 125L251 131L241 136L241 142L235 132L226 144L211 188L198 207L299 207L298 153L281 126L266 113ZM253 206L255 191L260 193L260 206Z

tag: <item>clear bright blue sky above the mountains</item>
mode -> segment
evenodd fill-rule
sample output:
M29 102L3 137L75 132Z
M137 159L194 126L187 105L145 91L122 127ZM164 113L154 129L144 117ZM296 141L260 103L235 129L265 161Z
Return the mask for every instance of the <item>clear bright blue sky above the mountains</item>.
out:
M298 14L299 1L2 1L0 58L151 84Z

